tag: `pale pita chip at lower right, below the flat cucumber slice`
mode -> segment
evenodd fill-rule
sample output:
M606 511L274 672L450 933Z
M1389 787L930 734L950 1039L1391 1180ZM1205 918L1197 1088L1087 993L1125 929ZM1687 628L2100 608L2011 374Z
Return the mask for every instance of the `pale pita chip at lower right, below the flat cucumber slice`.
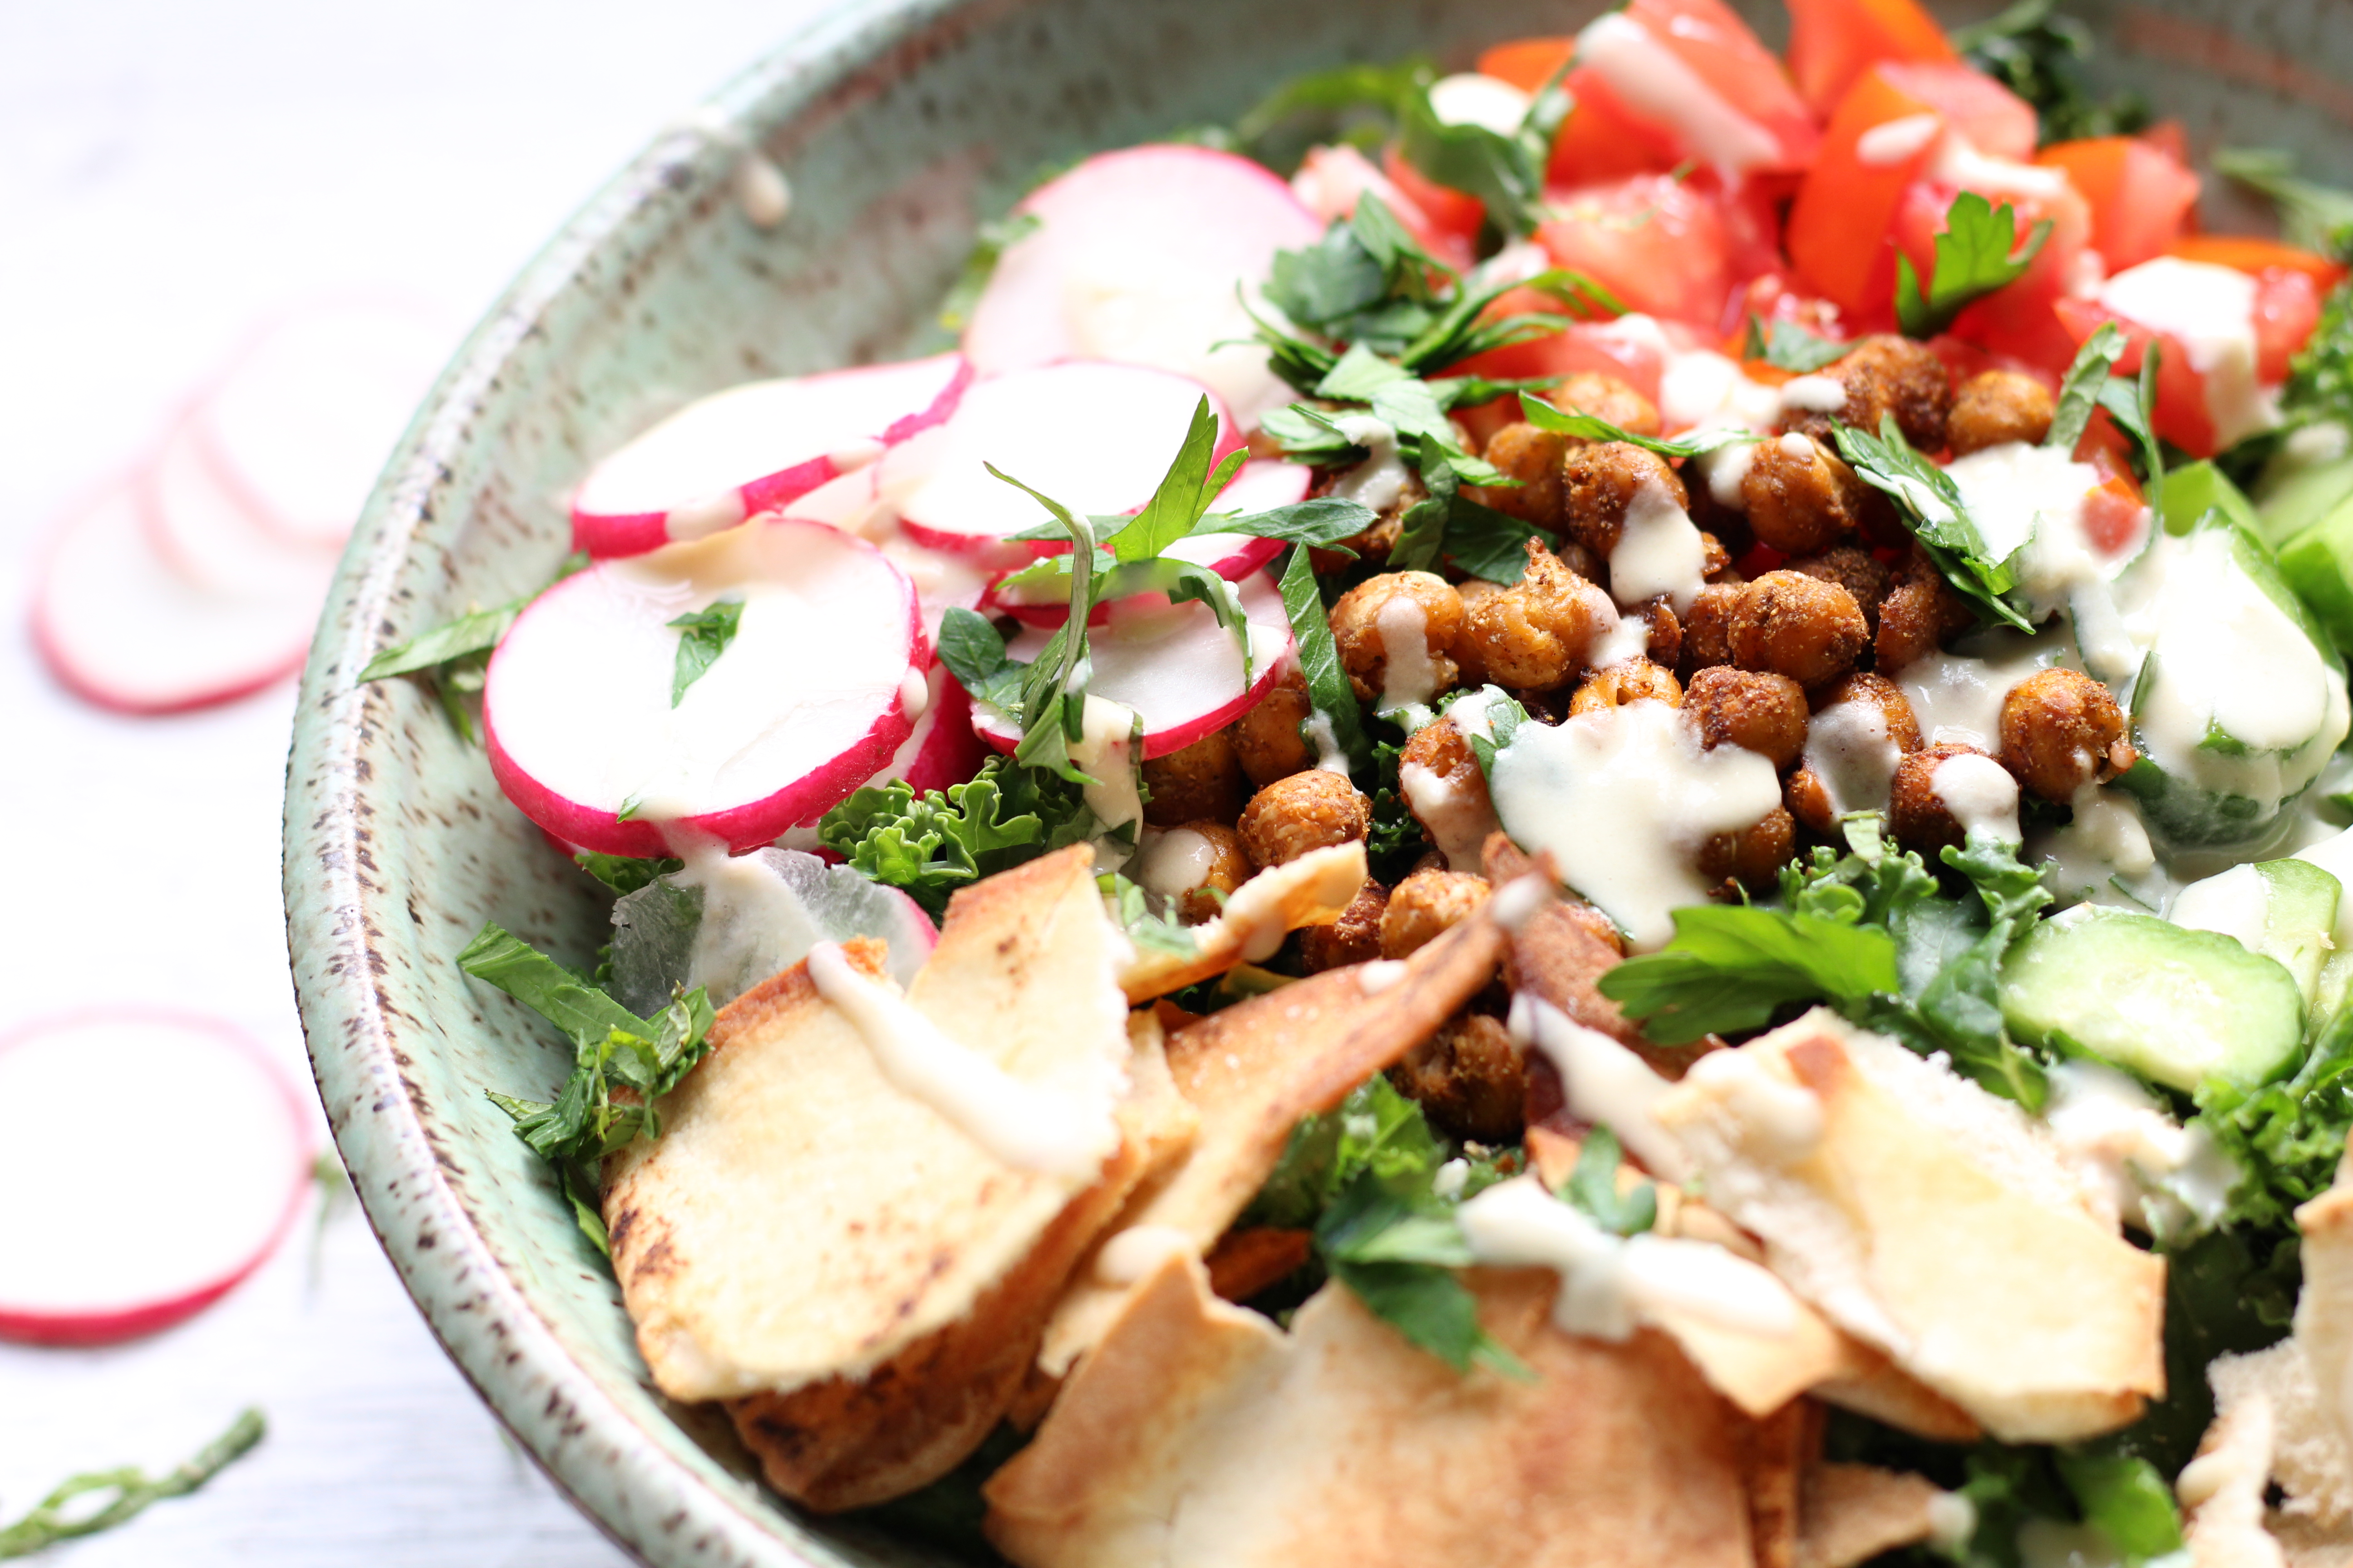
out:
M1814 1098L1812 1150L1774 1154L1718 1074L1654 1114L1833 1324L2005 1441L2094 1436L2165 1392L2162 1258L2089 1213L2014 1107L1821 1009L1739 1056Z

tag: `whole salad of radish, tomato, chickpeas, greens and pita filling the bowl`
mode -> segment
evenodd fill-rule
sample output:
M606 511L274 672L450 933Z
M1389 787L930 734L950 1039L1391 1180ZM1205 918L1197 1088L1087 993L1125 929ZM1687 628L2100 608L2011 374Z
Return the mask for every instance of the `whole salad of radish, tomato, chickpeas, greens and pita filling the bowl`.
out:
M654 1387L1021 1568L2353 1556L2353 197L2071 45L1292 82L379 649Z

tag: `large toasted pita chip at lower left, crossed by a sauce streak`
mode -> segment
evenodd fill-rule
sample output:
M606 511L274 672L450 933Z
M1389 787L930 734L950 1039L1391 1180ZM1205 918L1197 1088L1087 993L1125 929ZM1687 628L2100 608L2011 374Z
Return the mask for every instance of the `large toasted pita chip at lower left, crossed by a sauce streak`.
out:
M868 976L878 943L845 945ZM607 1161L614 1274L656 1385L732 1399L769 1481L852 1507L955 1465L1026 1378L1047 1307L1186 1107L1129 1041L1085 846L951 903L911 1001L1005 1072L1129 1060L1099 1171L1005 1166L894 1086L805 966L753 987L664 1105L666 1133Z

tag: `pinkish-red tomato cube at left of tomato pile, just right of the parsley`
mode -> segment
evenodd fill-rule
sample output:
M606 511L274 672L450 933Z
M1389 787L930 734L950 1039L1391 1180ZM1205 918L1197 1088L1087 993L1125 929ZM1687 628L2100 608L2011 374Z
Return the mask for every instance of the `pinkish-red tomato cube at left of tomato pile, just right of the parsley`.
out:
M1558 216L1537 228L1555 266L1586 273L1628 310L1718 327L1732 270L1725 219L1689 181L1638 174L1551 195Z

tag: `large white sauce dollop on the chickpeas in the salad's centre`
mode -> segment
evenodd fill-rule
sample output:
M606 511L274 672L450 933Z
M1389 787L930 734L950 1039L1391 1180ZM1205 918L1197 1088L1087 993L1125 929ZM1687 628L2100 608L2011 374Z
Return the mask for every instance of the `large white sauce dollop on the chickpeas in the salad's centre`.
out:
M1487 790L1511 837L1553 851L1562 882L1638 952L1666 945L1673 910L1706 900L1701 844L1781 804L1772 762L1739 745L1701 750L1682 712L1654 701L1522 724Z

